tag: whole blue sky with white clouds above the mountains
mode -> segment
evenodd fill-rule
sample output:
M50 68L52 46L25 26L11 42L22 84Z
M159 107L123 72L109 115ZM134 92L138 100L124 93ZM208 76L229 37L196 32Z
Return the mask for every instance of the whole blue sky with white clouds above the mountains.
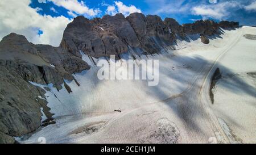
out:
M0 0L0 40L11 32L34 44L58 46L65 27L77 15L92 19L133 12L175 18L234 20L256 26L256 0Z

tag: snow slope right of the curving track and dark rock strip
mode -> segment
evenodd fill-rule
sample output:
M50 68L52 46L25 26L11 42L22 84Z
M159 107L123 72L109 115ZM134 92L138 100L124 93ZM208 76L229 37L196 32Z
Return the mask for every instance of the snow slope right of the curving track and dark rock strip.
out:
M243 27L243 35L256 35ZM232 143L256 143L256 41L240 37L220 60L213 109Z

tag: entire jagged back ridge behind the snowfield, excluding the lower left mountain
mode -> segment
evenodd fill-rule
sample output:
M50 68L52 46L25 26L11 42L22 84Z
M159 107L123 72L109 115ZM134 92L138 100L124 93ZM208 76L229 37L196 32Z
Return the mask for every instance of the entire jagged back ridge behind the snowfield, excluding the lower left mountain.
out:
M60 47L81 57L80 51L93 57L119 55L130 48L141 48L148 53L172 45L176 37L203 33L218 35L219 27L234 28L236 23L198 20L180 25L175 19L164 21L157 15L144 16L133 13L125 18L122 14L104 15L102 18L87 19L77 16L64 31Z

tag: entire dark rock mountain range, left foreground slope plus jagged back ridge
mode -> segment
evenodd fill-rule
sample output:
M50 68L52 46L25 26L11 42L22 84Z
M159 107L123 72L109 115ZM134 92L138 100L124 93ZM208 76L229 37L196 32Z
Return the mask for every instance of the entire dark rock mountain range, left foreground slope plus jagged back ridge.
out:
M10 33L0 42L0 143L15 143L14 137L52 123L54 114L44 95L50 90L31 82L63 89L64 79L71 81L75 79L73 73L90 69L81 52L95 58L121 57L130 51L151 55L175 49L177 39L189 41L190 35L197 35L207 44L209 36L222 33L220 28L238 27L237 22L212 20L180 25L175 19L163 21L156 15L133 13L126 18L116 14L92 20L77 16L65 29L59 47L35 45L22 35ZM64 86L67 89L67 83ZM42 111L48 118L44 122Z

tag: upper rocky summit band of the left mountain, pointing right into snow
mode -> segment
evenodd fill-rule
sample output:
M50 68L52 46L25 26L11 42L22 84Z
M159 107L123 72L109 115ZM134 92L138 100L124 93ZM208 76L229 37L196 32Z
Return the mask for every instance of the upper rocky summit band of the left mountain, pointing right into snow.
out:
M1 60L13 60L18 64L6 64L7 69L15 70L27 81L42 84L60 85L63 79L72 80L72 73L89 69L86 62L65 49L34 45L15 33L0 42L0 56Z

